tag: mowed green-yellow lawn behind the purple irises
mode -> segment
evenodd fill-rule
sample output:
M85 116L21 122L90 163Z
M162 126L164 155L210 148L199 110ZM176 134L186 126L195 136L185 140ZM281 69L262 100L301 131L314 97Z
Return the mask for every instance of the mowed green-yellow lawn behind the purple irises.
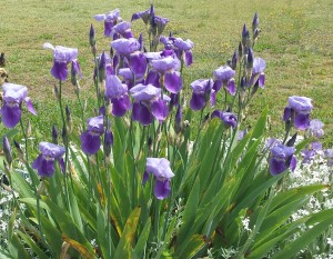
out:
M94 21L93 16L119 8L121 17L130 20L133 12L147 10L150 3L134 0L1 2L0 51L7 56L10 81L29 87L29 94L39 112L39 117L32 120L42 136L50 136L51 126L59 121L52 94L57 82L50 76L52 53L43 50L42 44L49 41L54 46L79 48L83 71L82 94L89 97L93 93L93 61L88 41L91 23L97 30L99 52L110 48L110 40L103 38L103 23ZM325 123L325 141L332 145L332 0L157 0L153 4L157 14L170 19L165 33L171 31L195 43L194 63L185 70L186 88L196 79L211 78L213 70L232 57L243 23L251 28L253 14L258 11L262 33L254 52L266 60L266 87L252 101L250 123L269 106L272 131L281 132L281 117L287 97L306 96L313 99L315 107L312 118ZM133 31L135 36L145 32L143 22L135 21ZM63 94L71 109L75 110L73 88L69 81Z

